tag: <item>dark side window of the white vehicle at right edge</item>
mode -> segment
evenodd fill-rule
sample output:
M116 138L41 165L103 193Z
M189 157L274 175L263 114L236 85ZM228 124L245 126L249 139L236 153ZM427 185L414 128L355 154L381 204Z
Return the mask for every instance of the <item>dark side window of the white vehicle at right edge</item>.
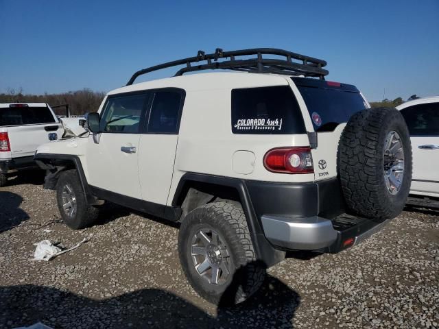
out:
M410 136L439 136L439 103L426 103L401 110Z

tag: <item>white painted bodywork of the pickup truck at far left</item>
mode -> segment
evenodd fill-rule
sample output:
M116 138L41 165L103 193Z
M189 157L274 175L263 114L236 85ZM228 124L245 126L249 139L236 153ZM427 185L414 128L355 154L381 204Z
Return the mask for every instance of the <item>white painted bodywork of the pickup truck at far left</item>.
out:
M32 125L8 125L0 127L1 132L8 132L10 152L0 152L0 159L19 158L23 156L33 156L38 145L49 141L49 133L55 132L61 138L64 130L54 111L46 103L25 103L28 106L48 107L54 117L55 122L38 123ZM2 108L9 108L9 103L0 104ZM58 126L57 130L47 132L45 127Z

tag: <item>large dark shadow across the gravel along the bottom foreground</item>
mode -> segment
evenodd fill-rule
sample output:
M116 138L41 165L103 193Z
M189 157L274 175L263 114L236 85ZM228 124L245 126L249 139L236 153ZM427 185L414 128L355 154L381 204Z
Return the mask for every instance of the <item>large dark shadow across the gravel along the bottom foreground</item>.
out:
M298 294L268 276L261 290L217 317L160 289L142 289L106 300L32 284L0 287L0 328L38 321L53 328L292 328Z

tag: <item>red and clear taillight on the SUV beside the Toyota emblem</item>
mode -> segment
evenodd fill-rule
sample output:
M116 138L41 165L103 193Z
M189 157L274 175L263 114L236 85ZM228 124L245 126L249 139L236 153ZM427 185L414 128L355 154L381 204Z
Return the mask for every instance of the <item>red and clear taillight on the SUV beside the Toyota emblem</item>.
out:
M309 147L280 147L270 149L263 165L274 173L313 173L313 158Z

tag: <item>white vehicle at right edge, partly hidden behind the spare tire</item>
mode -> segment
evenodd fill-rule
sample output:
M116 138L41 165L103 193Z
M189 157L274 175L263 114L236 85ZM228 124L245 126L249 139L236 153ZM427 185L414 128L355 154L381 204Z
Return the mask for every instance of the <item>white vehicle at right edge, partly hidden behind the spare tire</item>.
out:
M439 96L406 101L397 110L410 132L413 177L408 204L439 208Z

